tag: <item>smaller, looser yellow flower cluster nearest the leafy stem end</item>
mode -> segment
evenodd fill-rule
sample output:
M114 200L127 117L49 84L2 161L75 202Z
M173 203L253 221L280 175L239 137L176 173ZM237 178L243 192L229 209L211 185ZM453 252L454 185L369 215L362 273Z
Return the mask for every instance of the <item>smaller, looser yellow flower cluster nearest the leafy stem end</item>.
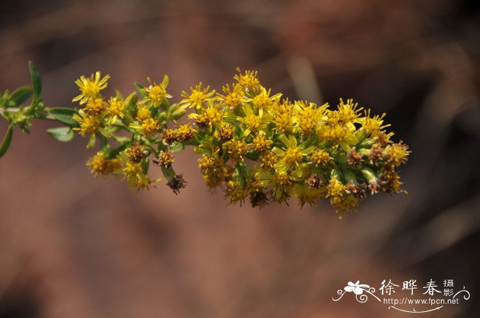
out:
M168 101L171 98L167 94L168 77L165 75L158 84L147 79L147 87L136 84L141 101L136 93L123 98L120 92L107 100L101 90L107 87L109 78L96 72L75 81L81 94L73 101L79 102L82 108L73 115L77 122L73 130L82 136L89 135L87 148L101 142L97 155L86 163L92 174L95 177L121 175L132 188L143 189L159 181L148 176L152 159L161 167L167 185L178 193L185 181L173 171L173 152L181 150L180 142L190 140L196 131L190 124L178 125L177 129L168 127L169 122L185 114L185 107L170 105Z

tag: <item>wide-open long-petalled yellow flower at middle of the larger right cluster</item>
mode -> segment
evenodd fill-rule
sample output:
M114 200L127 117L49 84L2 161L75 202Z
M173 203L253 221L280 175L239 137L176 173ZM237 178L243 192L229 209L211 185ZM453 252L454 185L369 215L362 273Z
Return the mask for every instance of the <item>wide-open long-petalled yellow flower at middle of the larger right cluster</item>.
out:
M288 138L285 135L280 135L279 138L283 144L285 144L286 148L280 149L274 147L272 151L281 158L275 165L276 170L280 173L287 172L291 165L298 166L304 156L310 155L315 150L315 146L309 148L297 146L296 137L293 135L289 135Z

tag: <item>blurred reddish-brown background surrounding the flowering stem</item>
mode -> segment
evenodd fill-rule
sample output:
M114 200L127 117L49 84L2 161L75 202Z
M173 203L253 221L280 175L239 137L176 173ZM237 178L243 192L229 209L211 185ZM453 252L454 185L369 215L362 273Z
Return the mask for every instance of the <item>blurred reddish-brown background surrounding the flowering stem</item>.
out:
M325 203L226 207L189 150L179 196L163 183L135 195L88 174L86 140L60 144L34 122L0 161L1 318L404 317L331 298L349 280L410 278L472 295L424 317L480 313L477 1L2 0L0 12L0 90L29 83L33 60L47 105L72 107L73 81L95 70L112 75L109 93L167 73L178 101L240 66L290 98L385 111L413 150L408 196L340 221Z

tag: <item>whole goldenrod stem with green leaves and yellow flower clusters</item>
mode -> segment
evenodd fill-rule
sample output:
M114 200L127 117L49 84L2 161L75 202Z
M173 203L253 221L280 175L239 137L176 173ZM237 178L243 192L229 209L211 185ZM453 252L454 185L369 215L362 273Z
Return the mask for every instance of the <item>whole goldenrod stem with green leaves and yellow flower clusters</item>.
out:
M369 195L405 193L397 170L408 146L392 142L385 114L372 116L351 99L340 98L335 108L289 101L264 88L256 71L239 68L235 83L221 92L199 83L178 103L171 103L167 75L136 83L129 95L107 97L101 91L110 76L95 72L75 81L78 109L49 108L40 98L38 70L32 63L29 68L32 88L0 96L0 116L8 121L0 156L14 127L28 133L37 118L62 124L47 131L60 142L76 132L87 148L98 148L86 163L95 177L120 176L136 190L160 181L148 175L154 168L178 194L186 181L173 170L175 153L193 146L206 185L223 189L230 204L248 199L261 208L296 196L303 207L326 198L343 217ZM32 103L23 106L30 96Z

